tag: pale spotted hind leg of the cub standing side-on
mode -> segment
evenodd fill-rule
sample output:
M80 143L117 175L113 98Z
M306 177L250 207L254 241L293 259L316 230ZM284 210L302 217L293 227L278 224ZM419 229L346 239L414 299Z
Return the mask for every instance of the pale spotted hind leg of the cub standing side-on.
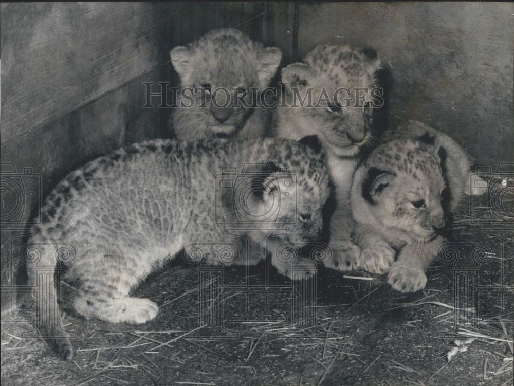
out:
M118 251L95 250L82 255L71 268L71 274L81 281L75 309L86 318L110 323L139 324L154 319L157 304L128 295L151 272L152 265L147 256Z

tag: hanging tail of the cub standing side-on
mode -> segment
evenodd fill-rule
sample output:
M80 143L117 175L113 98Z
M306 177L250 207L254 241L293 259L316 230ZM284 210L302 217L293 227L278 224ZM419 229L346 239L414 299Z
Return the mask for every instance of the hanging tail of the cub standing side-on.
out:
M65 244L45 243L40 237L30 237L22 249L22 258L27 265L28 284L32 287L35 300L35 324L44 338L54 346L62 358L73 358L73 346L68 333L62 327L62 320L57 302L54 283L58 261L75 256L75 250Z

